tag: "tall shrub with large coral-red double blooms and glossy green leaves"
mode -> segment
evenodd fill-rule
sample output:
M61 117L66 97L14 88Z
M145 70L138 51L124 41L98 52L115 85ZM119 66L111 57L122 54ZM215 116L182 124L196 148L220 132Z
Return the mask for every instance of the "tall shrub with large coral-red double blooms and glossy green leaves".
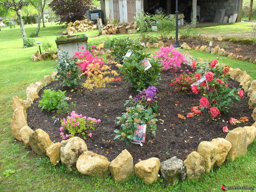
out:
M212 117L216 117L221 112L228 113L232 100L240 101L243 96L243 90L228 87L226 73L230 67L219 65L218 60L202 64L196 63L196 61L193 63L193 68L197 69L195 79L205 78L199 85L192 86L192 91L195 94L203 94L199 106L201 111L210 109Z

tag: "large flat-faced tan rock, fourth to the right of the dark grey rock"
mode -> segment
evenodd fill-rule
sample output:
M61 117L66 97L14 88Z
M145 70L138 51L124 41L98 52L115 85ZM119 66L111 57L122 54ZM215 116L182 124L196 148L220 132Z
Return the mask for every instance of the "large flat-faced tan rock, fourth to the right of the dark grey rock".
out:
M227 155L227 158L231 161L234 161L236 157L247 153L247 131L242 127L237 127L236 129L228 132L225 139L232 144Z

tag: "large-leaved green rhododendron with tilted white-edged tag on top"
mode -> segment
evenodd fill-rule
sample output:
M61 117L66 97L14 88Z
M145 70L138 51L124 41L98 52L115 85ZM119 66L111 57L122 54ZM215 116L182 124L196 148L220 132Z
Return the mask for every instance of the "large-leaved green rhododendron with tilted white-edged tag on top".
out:
M160 71L163 68L161 62L150 59L152 67L145 71L145 65L139 65L139 62L148 57L147 53L137 51L132 54L124 64L119 67L120 72L124 74L126 81L132 83L136 90L146 89L149 86L158 85L158 79L161 78Z

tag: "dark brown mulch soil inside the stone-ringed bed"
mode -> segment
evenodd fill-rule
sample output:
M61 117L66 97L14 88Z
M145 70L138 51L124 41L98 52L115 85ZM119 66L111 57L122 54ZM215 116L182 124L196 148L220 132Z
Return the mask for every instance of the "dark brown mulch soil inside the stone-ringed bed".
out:
M189 66L182 65L182 69L189 69L193 72ZM254 123L251 117L252 111L248 109L249 98L246 94L240 102L233 103L232 111L227 115L213 119L210 117L209 111L204 111L200 116L181 120L178 118L178 114L186 116L187 113L191 112L191 107L199 105L200 96L175 91L174 87L169 86L174 76L168 72L163 72L160 85L157 85L160 91L158 93L160 116L157 118L162 121L157 122L156 136L148 133L146 142L142 147L137 144L126 146L124 141L113 140L116 135L113 131L121 128L115 124L115 118L125 112L123 105L128 96L135 96L137 92L132 89L129 83L124 82L122 76L121 78L122 81L111 82L106 88L100 89L98 95L96 91L85 90L82 87L78 87L74 91L63 88L58 81L53 81L45 87L45 89L52 90L67 90L66 96L72 98L68 100L68 103L76 103L74 109L76 113L102 120L99 127L88 132L92 133L93 137L88 137L85 143L88 150L104 155L109 161L115 159L124 149L132 154L134 163L137 163L139 159L145 160L151 157L158 157L161 162L173 156L184 160L189 153L197 150L201 141L226 137L227 133L222 131L223 126L227 125L228 129L232 130L239 126L250 126ZM239 83L236 81L230 81L229 85L230 87L239 87ZM42 93L43 90L39 93L40 98L35 100L32 107L27 109L28 126L33 130L43 129L53 142L61 142L62 139L59 135L61 123L58 121L53 125L52 117L66 118L70 113L59 115L56 112L41 112L41 107L37 107L37 105L39 104L38 100L41 100ZM98 106L99 103L100 106ZM237 125L227 123L231 117L239 119L243 116L247 116L249 122Z

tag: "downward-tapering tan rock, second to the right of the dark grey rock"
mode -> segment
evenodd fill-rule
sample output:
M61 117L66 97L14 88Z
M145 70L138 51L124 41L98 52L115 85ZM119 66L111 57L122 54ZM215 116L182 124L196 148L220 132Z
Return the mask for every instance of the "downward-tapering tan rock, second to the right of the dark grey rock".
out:
M198 145L197 153L204 158L205 173L211 171L211 166L217 161L218 147L208 141L202 141Z

